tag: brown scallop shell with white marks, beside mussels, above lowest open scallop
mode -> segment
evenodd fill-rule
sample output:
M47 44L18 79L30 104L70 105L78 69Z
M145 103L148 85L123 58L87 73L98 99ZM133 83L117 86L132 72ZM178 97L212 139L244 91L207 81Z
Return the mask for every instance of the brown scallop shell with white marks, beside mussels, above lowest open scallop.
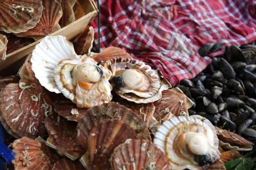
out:
M156 107L155 113L159 115L160 119L168 120L170 115L179 116L187 111L186 95L177 93L171 89L162 92L162 98L154 102Z

